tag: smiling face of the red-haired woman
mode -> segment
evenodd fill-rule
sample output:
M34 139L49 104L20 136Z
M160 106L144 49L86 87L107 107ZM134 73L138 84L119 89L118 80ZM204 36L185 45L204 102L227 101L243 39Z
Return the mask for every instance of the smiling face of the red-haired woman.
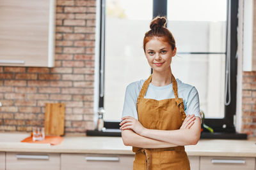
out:
M166 71L170 69L172 57L176 54L176 47L172 50L172 46L164 41L163 38L155 37L150 39L145 45L145 55L148 64L153 71Z

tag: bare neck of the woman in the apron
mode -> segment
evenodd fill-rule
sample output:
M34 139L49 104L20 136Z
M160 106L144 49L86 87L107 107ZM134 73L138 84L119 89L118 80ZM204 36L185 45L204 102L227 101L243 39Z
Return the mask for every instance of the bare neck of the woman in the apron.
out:
M151 80L152 85L160 87L164 85L169 85L172 83L172 69L166 70L166 71L153 71L152 73L152 80Z

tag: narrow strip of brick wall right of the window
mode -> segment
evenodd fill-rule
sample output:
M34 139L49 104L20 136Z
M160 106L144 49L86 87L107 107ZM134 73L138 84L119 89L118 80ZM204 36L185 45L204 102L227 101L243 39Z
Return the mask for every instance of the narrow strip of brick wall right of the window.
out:
M243 72L241 131L249 136L256 136L256 71Z

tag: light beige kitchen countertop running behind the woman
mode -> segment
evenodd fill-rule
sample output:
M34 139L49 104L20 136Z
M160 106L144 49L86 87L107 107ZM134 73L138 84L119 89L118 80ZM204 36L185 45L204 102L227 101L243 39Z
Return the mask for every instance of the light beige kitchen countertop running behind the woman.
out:
M132 155L131 146L124 146L120 137L88 137L67 134L60 145L20 143L30 134L0 132L0 152L108 153ZM200 139L197 145L185 146L189 156L256 157L256 138L248 140Z

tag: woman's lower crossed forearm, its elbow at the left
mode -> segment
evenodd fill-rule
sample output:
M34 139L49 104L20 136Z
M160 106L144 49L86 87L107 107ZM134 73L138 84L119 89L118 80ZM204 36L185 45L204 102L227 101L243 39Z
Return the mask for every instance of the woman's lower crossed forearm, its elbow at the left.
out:
M168 148L177 146L165 141L140 136L132 130L122 131L122 139L125 146L136 146L139 148Z

